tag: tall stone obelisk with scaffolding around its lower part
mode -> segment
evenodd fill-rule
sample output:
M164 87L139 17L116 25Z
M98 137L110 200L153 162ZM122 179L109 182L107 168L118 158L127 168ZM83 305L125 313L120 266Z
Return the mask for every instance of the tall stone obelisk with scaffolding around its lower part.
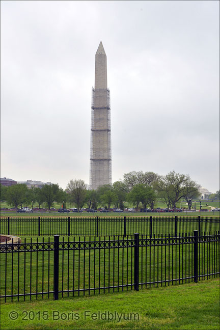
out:
M107 88L106 62L100 42L95 56L95 88L92 89L90 189L112 184L110 91Z

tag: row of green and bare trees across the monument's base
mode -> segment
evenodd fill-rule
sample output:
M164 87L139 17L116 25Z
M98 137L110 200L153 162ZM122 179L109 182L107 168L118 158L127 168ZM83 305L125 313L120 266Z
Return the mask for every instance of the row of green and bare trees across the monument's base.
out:
M193 199L199 197L200 185L188 175L175 171L166 176L153 172L129 172L123 180L112 185L100 186L97 190L89 190L83 180L70 180L64 191L58 184L44 185L42 188L28 189L25 184L1 187L1 200L18 208L22 204L38 203L39 207L46 203L50 209L54 202L73 203L77 208L87 205L97 209L98 204L110 208L111 205L123 208L125 202L139 207L154 208L157 200L166 202L167 207L176 208L176 204L184 199L191 209ZM65 207L65 206L64 206Z

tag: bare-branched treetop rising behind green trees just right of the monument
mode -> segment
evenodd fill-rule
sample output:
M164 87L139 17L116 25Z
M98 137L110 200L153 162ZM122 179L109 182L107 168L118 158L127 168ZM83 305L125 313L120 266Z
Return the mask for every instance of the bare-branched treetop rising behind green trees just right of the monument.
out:
M139 172L132 171L129 173L125 173L123 178L125 185L128 187L129 190L131 190L132 187L137 184L144 184L145 186L151 186L153 182L159 178L159 176L154 172L143 173L143 171L139 171Z

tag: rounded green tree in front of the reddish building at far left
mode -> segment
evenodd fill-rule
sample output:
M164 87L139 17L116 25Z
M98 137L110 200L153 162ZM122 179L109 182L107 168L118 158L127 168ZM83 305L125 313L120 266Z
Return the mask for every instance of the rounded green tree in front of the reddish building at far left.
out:
M18 208L18 205L22 205L28 194L28 187L26 184L14 184L7 189L6 201Z

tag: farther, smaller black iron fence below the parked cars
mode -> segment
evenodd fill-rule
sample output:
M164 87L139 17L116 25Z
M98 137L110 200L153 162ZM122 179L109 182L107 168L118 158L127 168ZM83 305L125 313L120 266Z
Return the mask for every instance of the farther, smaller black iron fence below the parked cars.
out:
M219 230L216 216L124 216L124 217L2 217L0 232L26 236L126 236L138 232L143 235L193 233L194 230Z

